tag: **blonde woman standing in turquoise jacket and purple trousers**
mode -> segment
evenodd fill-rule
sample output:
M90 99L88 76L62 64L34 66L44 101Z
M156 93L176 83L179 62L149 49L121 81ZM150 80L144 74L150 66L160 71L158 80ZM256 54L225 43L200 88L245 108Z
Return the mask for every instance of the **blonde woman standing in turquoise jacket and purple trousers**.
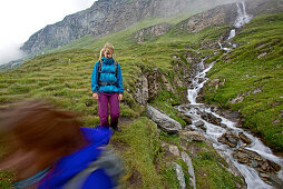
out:
M123 77L119 63L114 58L114 47L106 43L100 51L91 74L92 98L98 100L100 126L109 127L108 117L110 107L110 127L121 131L118 127L120 116L119 101L123 99Z

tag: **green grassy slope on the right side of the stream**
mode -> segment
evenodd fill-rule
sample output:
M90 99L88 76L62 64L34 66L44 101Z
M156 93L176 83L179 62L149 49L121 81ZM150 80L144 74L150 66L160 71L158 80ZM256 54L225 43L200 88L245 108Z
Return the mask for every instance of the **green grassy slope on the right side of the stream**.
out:
M240 48L222 57L209 71L211 80L226 83L218 90L206 88L205 99L240 110L245 127L263 137L274 149L283 150L283 14L253 19L234 39ZM265 57L258 58L260 54ZM223 61L226 60L226 61ZM261 89L261 92L255 92ZM230 101L244 94L242 102Z

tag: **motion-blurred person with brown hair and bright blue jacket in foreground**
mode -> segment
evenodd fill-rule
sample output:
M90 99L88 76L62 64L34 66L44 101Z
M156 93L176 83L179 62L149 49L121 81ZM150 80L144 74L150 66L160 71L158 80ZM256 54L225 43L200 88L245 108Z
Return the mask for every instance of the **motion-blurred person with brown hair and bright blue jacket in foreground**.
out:
M17 173L16 188L108 189L118 185L119 159L104 147L108 127L80 128L76 116L39 100L0 113L0 171Z

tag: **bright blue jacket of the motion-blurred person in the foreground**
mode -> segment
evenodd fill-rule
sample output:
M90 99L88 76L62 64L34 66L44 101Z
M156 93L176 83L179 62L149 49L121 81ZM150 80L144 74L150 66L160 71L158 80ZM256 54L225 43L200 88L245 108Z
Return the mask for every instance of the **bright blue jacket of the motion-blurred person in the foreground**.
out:
M82 128L81 131L88 145L61 158L40 182L39 189L64 189L71 178L98 159L104 151L101 147L106 146L111 137L108 127ZM97 169L84 181L81 189L110 189L114 187L114 181L105 170Z

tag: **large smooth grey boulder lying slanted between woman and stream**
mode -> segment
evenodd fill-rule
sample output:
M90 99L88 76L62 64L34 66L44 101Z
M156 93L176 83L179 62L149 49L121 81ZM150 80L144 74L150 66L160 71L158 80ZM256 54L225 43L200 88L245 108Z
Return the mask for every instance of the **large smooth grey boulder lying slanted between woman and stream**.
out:
M147 106L147 116L165 132L176 133L182 129L182 125L167 115L162 113L154 107Z

